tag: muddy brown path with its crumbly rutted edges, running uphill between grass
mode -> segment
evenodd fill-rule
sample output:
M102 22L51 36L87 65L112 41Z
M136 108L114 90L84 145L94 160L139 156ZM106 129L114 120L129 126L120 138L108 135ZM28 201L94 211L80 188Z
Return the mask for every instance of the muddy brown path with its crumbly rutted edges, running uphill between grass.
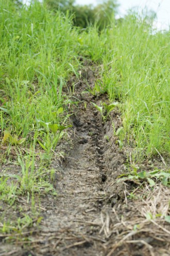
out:
M115 152L111 154L114 149L106 139L106 133L112 136L113 132L110 121L104 124L92 104L108 101L107 96L87 93L87 83L93 88L96 76L89 67L83 72L75 86L74 97L80 103L71 115L72 149L56 167L61 172L56 182L58 196L55 201L50 197L42 200L45 211L37 238L23 255L106 255L111 210L109 168L114 165L124 169L125 159Z

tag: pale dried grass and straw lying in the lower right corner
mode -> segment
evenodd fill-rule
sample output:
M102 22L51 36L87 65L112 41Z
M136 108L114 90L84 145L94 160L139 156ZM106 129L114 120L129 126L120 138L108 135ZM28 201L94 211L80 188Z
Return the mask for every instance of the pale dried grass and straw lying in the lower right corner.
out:
M170 255L170 225L164 219L170 214L169 195L167 187L157 185L151 190L146 185L143 190L138 190L138 196L142 199L132 201L131 205L128 203L129 214L125 218L122 216L120 219L120 210L113 207L117 223L110 221L110 233L106 236L110 236L110 239L105 243L107 256L132 256L137 255L137 252L143 256ZM125 208L127 204L123 205L123 212Z

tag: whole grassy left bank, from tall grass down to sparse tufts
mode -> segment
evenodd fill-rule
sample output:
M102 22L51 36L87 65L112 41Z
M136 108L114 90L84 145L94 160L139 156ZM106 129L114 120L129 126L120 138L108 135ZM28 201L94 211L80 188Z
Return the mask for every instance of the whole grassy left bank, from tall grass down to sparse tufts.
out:
M38 2L0 8L0 193L13 204L19 195L56 193L50 163L70 128L72 102L62 88L79 65L78 29Z

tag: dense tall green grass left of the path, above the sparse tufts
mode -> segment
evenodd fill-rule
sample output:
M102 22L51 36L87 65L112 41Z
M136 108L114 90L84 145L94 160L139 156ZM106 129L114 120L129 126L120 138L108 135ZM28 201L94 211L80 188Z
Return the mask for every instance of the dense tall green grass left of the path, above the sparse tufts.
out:
M1 126L30 143L37 119L65 121L57 110L66 107L62 87L78 66L77 31L70 17L38 1L19 9L9 0L0 3Z

